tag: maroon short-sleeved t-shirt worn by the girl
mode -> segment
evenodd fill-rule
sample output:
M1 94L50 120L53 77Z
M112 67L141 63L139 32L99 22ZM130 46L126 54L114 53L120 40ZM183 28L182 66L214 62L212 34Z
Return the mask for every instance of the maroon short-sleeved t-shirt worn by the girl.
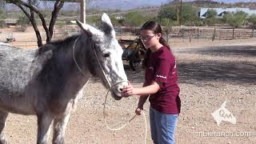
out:
M178 74L174 54L162 46L150 54L146 67L146 86L152 81L162 82L157 93L150 95L150 106L164 114L179 114L181 101L178 96Z

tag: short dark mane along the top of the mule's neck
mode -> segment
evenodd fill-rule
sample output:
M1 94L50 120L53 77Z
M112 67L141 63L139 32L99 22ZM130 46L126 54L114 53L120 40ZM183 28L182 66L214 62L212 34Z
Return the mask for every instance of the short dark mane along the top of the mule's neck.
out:
M69 45L70 42L74 41L76 38L78 38L78 34L72 35L65 39L60 39L57 41L48 42L45 45L39 47L38 49L38 55L43 54L44 52L48 50L56 50L56 49L65 49L68 48L67 45Z

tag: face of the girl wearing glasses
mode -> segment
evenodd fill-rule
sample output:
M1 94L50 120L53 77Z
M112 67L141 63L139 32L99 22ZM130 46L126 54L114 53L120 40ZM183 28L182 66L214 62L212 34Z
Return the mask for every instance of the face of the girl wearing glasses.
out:
M140 39L146 46L146 48L157 46L159 43L159 38L161 34L154 34L152 30L141 30Z

